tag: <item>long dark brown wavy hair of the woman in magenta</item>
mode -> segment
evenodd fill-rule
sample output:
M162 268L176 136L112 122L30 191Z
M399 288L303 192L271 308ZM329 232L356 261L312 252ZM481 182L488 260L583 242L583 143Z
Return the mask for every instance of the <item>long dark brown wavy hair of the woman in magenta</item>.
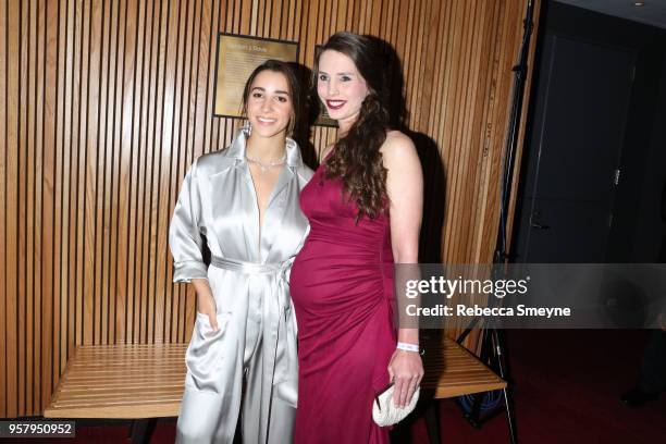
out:
M368 86L368 97L361 103L358 120L349 131L335 144L333 153L325 162L325 175L329 178L340 177L343 190L350 201L358 207L357 222L363 215L377 218L386 211L387 170L382 163L380 147L386 140L388 130L388 111L384 103L384 70L379 48L366 36L353 33L332 35L319 48L312 71L313 94L317 97L319 77L319 58L325 50L334 50L347 55Z

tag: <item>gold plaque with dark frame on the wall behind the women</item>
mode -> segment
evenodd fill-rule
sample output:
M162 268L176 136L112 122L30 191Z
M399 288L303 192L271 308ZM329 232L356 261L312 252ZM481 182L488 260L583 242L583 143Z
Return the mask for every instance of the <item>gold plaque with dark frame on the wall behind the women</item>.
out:
M298 44L224 33L218 35L214 115L242 116L245 82L255 67L268 59L296 62Z

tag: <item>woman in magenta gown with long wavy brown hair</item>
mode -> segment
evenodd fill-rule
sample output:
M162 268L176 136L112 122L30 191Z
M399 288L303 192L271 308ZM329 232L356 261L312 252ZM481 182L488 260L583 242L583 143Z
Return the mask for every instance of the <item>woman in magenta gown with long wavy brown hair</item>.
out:
M387 443L372 402L390 381L405 405L423 375L418 330L393 325L393 263L416 263L422 177L411 140L388 131L372 41L321 47L317 92L338 139L300 194L310 233L291 274L298 324L295 442ZM417 351L415 351L415 349Z

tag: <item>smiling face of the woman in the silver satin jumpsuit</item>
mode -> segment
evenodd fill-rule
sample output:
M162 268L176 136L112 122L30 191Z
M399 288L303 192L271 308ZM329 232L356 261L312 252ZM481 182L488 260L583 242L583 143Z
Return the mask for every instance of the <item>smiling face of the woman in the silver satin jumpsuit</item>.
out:
M286 132L294 106L284 74L270 70L257 74L248 89L246 112L252 136L273 137Z

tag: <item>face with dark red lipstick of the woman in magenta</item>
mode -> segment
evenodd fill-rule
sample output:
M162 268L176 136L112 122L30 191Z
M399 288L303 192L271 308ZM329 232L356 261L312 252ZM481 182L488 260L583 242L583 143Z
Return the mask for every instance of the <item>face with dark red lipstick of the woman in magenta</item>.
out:
M332 49L321 53L317 94L341 128L348 128L356 122L368 92L366 79L351 59Z

